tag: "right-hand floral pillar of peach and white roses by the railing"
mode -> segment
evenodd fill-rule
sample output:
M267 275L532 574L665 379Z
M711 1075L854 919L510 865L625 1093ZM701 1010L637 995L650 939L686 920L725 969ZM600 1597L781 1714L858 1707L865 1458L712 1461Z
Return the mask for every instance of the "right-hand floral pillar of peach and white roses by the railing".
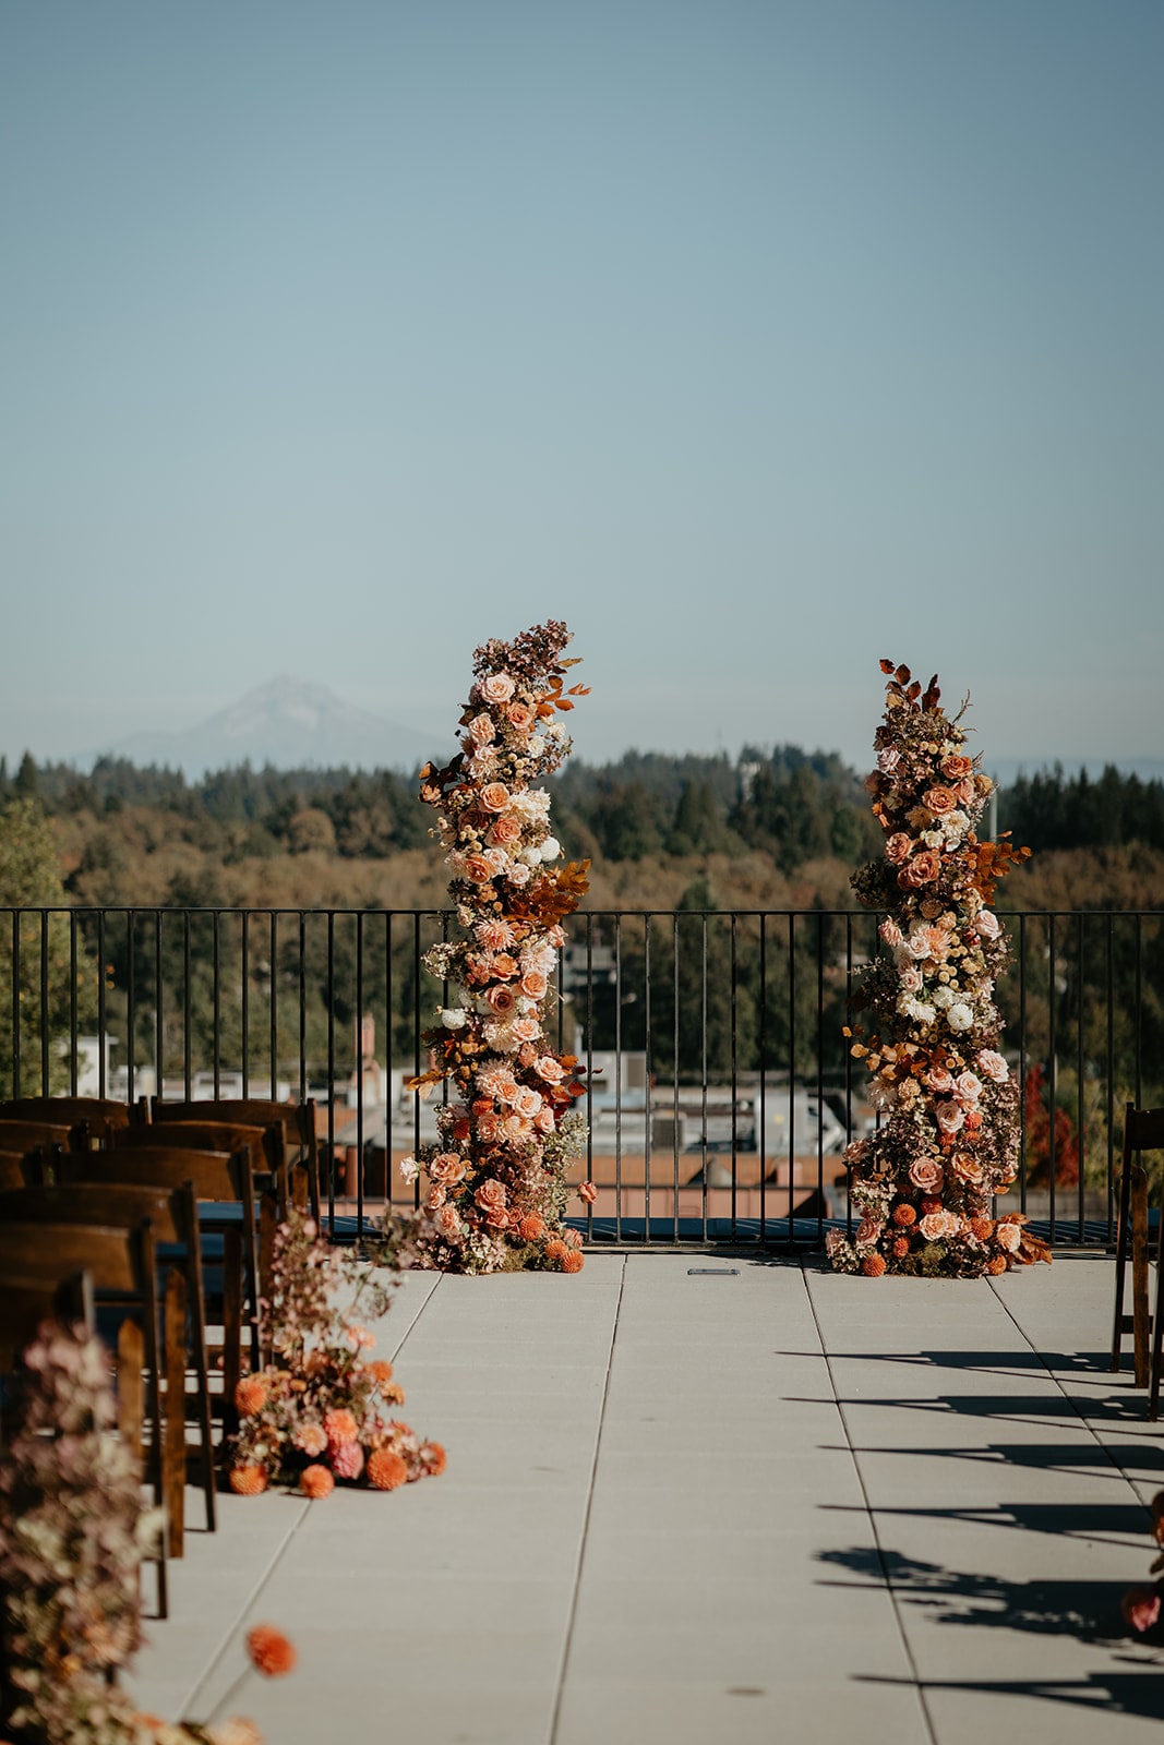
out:
M1009 948L989 904L1030 850L977 836L993 784L969 756L962 710L949 719L941 707L937 679L923 691L907 667L881 661L881 672L867 789L885 855L852 883L887 911L887 955L853 995L871 1028L848 1035L883 1124L846 1152L862 1220L853 1241L829 1232L827 1251L838 1270L869 1277L979 1277L1051 1258L1021 1213L991 1211L1017 1171L1019 1091L1000 1052L993 989Z

